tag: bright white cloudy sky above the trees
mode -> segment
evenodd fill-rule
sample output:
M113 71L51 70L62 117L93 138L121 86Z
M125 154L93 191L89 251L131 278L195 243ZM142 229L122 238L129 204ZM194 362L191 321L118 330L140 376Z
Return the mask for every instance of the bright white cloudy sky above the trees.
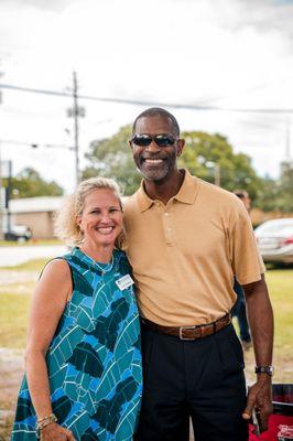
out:
M145 103L79 100L82 168L90 141L148 103L182 130L226 136L261 175L278 178L293 152L293 0L0 0L0 84L70 92L75 71L80 95ZM72 192L72 98L1 95L1 160Z

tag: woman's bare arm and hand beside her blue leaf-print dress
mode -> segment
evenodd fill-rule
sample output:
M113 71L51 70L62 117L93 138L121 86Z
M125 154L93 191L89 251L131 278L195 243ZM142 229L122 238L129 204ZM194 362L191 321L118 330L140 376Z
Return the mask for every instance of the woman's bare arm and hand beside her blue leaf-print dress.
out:
M72 291L70 269L65 260L57 259L45 267L33 292L25 369L30 395L39 420L52 413L45 355ZM52 431L56 431L56 435L54 433L48 435ZM61 434L62 438L58 438L59 431L66 431L66 433L64 432L63 435ZM69 431L56 423L51 423L42 430L42 439L74 440Z

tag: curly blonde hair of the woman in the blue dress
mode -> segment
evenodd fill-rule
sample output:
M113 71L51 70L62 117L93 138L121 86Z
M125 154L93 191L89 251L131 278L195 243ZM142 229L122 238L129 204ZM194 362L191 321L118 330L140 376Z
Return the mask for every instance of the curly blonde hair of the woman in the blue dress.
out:
M83 241L84 235L76 223L76 216L80 215L85 207L85 198L94 190L110 190L121 203L121 191L116 181L109 178L90 178L80 182L74 194L65 201L62 208L56 213L54 219L55 235L68 245L78 245Z

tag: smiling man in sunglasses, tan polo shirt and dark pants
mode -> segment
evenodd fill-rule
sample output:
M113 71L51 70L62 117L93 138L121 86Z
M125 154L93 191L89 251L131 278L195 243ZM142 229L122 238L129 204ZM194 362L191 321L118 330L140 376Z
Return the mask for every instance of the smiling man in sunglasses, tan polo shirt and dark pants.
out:
M178 170L184 140L173 115L138 116L130 140L142 173L124 207L127 252L142 316L144 392L139 441L248 439L257 408L271 412L273 319L248 214L231 193ZM230 323L242 284L257 381L246 401L241 344Z

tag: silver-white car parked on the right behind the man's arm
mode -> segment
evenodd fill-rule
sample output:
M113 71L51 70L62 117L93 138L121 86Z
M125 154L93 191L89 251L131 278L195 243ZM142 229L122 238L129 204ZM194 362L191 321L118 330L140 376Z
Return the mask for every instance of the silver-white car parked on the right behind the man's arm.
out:
M267 220L254 234L265 262L293 263L293 218Z

